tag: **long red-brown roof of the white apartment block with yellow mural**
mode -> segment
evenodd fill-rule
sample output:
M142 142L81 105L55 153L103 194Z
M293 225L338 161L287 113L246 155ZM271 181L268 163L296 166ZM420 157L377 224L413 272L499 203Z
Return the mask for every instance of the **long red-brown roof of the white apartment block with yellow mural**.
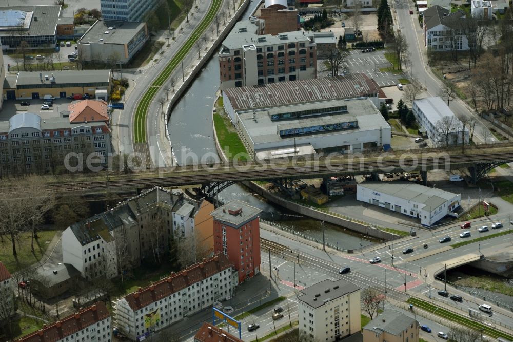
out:
M195 263L185 270L171 273L169 277L156 281L145 288L140 288L124 298L133 311L139 310L154 301L160 300L198 281L224 271L232 267L232 265L226 255L219 253L208 259L204 259L203 262Z

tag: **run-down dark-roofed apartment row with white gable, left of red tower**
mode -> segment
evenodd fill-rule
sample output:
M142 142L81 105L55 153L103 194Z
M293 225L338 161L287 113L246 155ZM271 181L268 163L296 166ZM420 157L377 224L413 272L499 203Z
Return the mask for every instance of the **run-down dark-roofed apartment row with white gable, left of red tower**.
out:
M196 215L202 212L204 217L210 210L209 206L201 209L202 202L180 190L154 187L70 225L62 235L63 261L87 279L113 278L122 267L120 262L137 267L143 259L168 251L171 240L194 238Z

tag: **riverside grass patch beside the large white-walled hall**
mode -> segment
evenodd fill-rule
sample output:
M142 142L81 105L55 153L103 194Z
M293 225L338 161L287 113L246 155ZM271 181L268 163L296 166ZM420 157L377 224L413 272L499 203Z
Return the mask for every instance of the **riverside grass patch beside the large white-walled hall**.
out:
M240 161L247 161L251 158L246 151L246 147L239 138L239 134L230 123L226 115L214 113L214 127L218 136L219 145L226 154L228 160L232 160L235 156Z

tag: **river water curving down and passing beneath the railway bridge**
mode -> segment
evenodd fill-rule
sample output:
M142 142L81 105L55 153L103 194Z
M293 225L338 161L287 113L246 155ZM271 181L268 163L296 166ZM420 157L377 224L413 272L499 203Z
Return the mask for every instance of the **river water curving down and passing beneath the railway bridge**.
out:
M251 1L243 18L247 18L258 3L255 0ZM215 149L212 125L212 106L218 89L219 62L214 54L171 113L169 135L179 164L185 164L186 156L190 155L197 156L198 160L206 154L219 158ZM273 215L275 222L322 240L321 221L275 206L239 184L226 188L218 195L218 199L225 203L232 199L245 201L262 210L262 219L272 221ZM366 246L372 243L370 238L342 227L329 223L325 223L324 227L326 241L338 245L339 248L358 249L360 244Z

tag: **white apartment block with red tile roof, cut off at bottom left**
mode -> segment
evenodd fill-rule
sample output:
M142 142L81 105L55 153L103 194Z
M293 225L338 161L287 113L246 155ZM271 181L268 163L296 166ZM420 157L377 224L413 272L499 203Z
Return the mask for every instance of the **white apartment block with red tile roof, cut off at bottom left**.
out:
M45 325L42 329L25 335L17 342L70 342L70 341L112 341L110 312L101 301L82 309L73 315Z

